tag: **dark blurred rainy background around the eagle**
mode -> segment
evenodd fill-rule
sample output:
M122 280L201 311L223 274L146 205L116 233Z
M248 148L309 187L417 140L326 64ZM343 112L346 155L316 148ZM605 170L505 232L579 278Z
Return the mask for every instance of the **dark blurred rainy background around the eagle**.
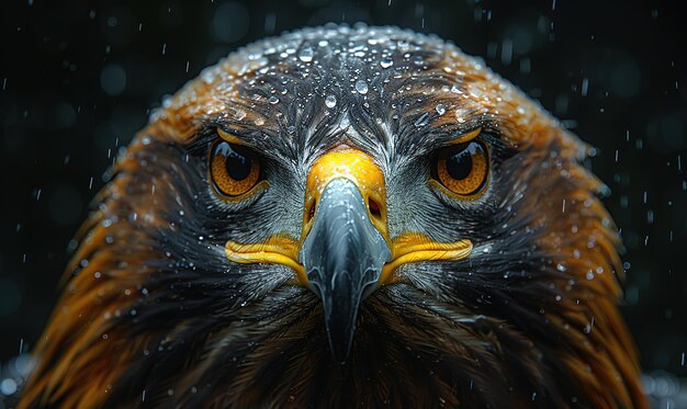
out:
M0 5L0 362L31 350L103 171L150 107L249 42L327 22L436 33L598 148L644 371L687 375L679 2L42 1Z

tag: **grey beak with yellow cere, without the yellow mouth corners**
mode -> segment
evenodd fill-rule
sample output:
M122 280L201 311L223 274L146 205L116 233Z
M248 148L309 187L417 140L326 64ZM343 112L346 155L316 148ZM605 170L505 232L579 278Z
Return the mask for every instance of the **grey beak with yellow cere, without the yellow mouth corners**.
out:
M323 302L329 346L345 362L361 300L391 258L384 174L360 150L330 151L308 172L299 260Z

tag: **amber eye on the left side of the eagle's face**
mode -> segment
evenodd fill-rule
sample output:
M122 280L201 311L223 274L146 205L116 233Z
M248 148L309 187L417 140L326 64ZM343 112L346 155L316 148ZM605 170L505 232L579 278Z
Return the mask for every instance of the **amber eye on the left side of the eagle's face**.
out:
M217 192L240 196L258 183L260 160L244 146L218 140L210 151L210 174Z

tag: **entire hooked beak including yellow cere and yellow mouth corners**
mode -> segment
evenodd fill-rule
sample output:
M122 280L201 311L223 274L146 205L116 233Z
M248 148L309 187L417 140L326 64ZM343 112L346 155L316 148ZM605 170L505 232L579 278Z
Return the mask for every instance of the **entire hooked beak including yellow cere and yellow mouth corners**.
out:
M354 149L333 150L311 168L299 240L274 235L262 243L226 245L234 262L280 263L296 272L299 284L322 299L329 346L341 363L352 345L361 302L396 282L393 272L399 265L461 260L471 250L470 240L436 242L419 232L392 240L382 170Z

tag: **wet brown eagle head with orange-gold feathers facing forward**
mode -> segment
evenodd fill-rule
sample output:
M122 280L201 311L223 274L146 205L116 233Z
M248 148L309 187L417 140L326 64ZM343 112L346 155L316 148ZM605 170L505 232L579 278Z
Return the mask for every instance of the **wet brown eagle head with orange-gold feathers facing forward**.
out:
M23 405L643 407L587 154L436 37L250 45L119 158Z

